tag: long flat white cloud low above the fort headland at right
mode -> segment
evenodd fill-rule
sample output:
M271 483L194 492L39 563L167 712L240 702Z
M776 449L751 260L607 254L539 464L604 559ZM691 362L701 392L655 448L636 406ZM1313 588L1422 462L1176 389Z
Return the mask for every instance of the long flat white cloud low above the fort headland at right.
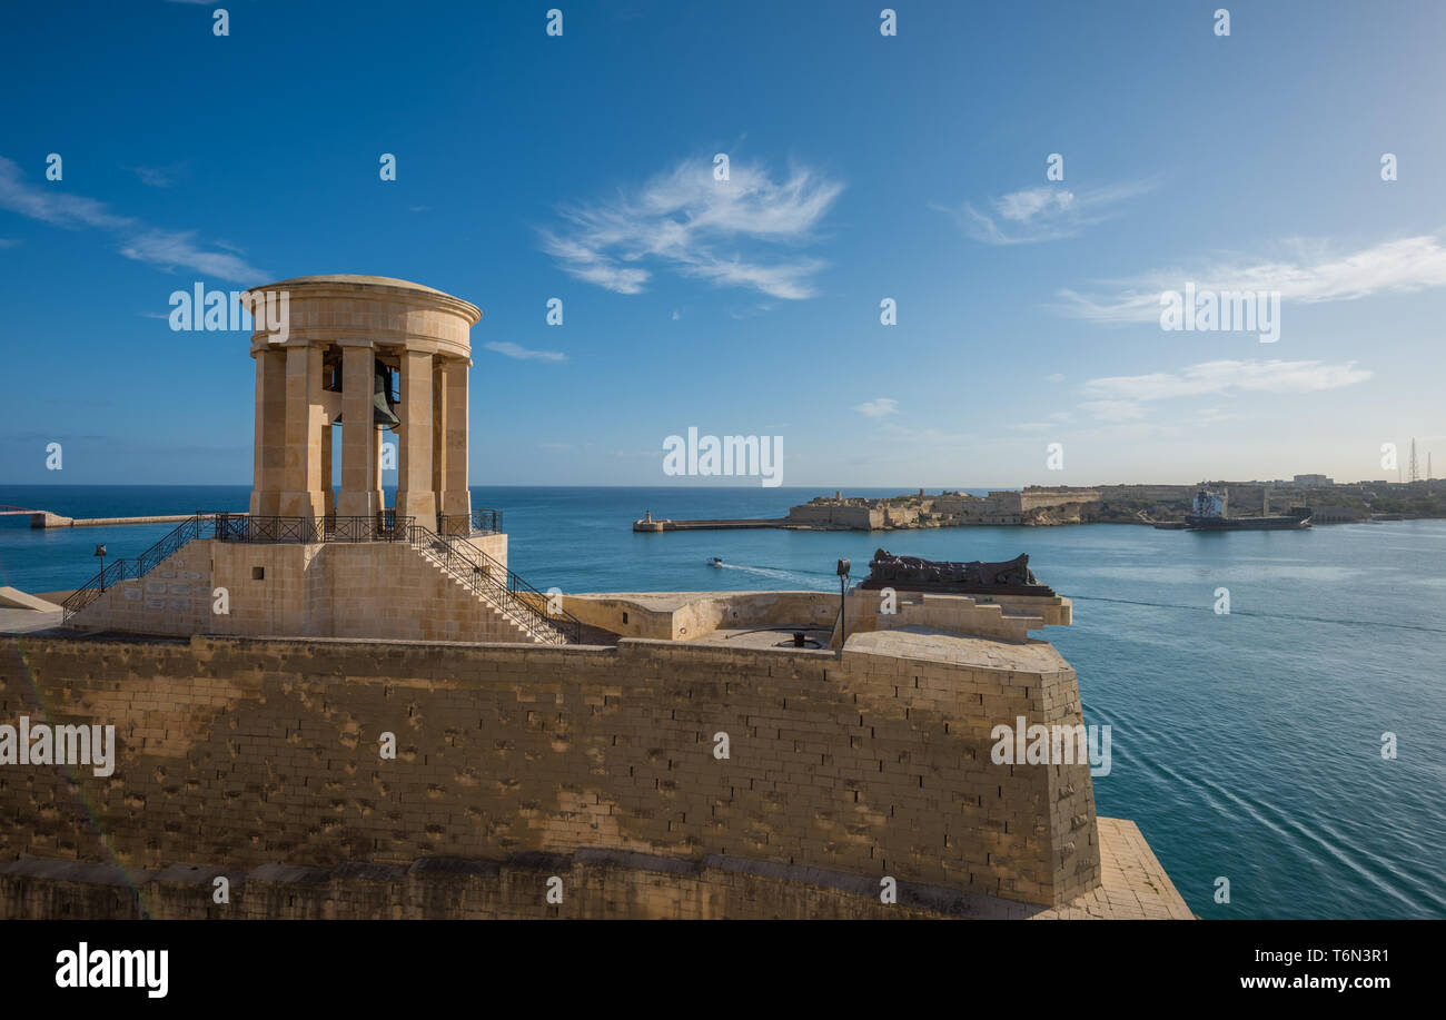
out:
M1232 392L1309 394L1353 386L1369 378L1371 372L1358 369L1355 362L1200 362L1178 372L1090 379L1084 392L1098 399L1080 407L1096 418L1122 421L1141 417L1132 411L1139 401Z

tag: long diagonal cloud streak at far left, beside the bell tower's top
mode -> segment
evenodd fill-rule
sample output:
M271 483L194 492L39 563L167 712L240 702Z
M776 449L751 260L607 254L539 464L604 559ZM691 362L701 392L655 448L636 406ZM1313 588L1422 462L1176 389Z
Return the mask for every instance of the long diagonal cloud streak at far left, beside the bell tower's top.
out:
M52 185L30 185L25 174L10 159L0 156L0 208L19 213L40 223L80 230L94 227L120 237L120 253L127 259L147 262L162 269L194 269L227 281L256 282L270 273L256 269L231 249L231 253L210 252L192 240L194 230L161 230L113 213L106 203L84 195L72 195Z

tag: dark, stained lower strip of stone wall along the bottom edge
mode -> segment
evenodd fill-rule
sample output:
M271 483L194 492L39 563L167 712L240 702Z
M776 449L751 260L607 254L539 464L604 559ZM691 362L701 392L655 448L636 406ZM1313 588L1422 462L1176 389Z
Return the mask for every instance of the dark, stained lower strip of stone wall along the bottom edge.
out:
M217 878L226 903L215 903ZM561 903L548 900L560 880ZM0 917L101 920L534 920L675 919L1027 919L1047 909L899 883L885 904L879 881L742 858L704 861L581 849L503 861L424 858L412 865L262 865L234 871L174 865L123 872L71 861L0 864ZM1053 913L1053 911L1050 911Z

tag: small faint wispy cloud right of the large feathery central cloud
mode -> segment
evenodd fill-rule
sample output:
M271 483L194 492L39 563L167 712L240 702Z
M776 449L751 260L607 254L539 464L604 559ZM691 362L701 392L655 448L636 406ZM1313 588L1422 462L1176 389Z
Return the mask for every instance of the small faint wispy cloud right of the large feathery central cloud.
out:
M1115 207L1152 190L1152 181L1070 191L1063 185L1024 188L991 198L980 211L973 203L957 208L933 205L951 216L975 240L986 245L1034 245L1073 237L1084 227L1108 220Z

